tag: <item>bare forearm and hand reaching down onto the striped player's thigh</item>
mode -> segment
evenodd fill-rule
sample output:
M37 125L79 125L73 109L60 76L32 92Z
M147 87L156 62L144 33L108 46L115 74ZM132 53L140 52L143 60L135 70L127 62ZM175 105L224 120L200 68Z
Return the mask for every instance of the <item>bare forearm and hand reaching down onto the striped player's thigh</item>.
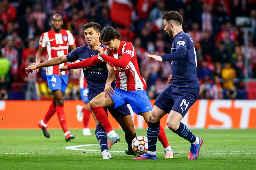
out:
M107 78L107 81L105 84L104 92L105 92L105 97L108 98L108 95L110 97L112 97L112 94L114 95L114 92L115 92L115 90L111 86L111 83L114 81L114 79L116 77L116 71L110 64L107 63L106 65L107 65L107 69L108 69L108 78Z

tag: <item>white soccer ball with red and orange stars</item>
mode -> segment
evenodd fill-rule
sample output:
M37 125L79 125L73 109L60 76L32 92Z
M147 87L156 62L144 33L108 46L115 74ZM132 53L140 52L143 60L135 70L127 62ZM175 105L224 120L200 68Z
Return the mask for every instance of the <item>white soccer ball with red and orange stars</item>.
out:
M132 140L132 150L139 155L148 152L148 137L137 136Z

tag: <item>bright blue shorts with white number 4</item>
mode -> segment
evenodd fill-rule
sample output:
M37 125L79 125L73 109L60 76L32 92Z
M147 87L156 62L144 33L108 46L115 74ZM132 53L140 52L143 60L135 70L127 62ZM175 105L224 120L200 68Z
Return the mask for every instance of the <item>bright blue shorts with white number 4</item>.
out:
M66 92L68 85L68 74L59 77L57 74L47 75L48 87L51 91L61 90L63 93Z

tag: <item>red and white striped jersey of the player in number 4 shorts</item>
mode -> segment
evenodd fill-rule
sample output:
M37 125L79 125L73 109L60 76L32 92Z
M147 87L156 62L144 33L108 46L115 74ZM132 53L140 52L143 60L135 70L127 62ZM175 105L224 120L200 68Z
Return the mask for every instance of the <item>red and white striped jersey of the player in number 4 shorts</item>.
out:
M55 57L67 55L69 46L74 45L76 45L76 43L73 34L70 31L64 29L62 29L60 33L56 33L53 30L43 33L39 41L39 47L46 47L48 53L48 60L51 60ZM67 65L67 63L47 67L46 74L59 74L58 68L65 65ZM65 74L68 74L68 71L62 73L62 75Z

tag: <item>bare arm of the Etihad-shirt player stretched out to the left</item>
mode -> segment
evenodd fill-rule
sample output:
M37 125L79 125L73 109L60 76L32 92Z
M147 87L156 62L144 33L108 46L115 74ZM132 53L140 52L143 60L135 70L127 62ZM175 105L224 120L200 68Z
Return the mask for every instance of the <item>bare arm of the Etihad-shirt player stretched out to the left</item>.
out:
M36 69L39 69L39 68L42 68L42 67L49 67L49 66L59 65L61 63L65 63L65 62L68 62L68 59L67 59L66 55L52 58L51 60L45 61L45 62L40 63L40 64L35 64L35 65L28 66L25 69L26 69L26 73L32 73L33 70L36 70Z

